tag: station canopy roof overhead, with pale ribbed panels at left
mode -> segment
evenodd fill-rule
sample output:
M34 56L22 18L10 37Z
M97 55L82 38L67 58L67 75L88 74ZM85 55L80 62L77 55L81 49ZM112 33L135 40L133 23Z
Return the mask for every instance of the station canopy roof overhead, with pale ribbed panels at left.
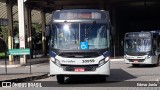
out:
M8 0L0 0L0 19L7 19L7 1ZM11 1L14 3L13 20L18 21L17 0ZM49 24L51 20L51 13L54 10L107 8L112 9L113 7L118 5L139 6L144 4L154 4L155 0L147 2L146 1L147 0L26 0L25 4L31 7L32 9L32 23L42 23L41 10L44 10L46 12L46 24Z

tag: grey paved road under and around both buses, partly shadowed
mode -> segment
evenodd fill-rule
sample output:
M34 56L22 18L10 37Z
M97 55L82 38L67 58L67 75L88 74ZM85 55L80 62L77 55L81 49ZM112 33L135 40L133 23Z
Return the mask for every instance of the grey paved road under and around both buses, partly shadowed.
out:
M49 83L53 87L34 88L34 89L58 89L58 90L160 90L160 87L136 87L137 81L142 84L156 81L160 78L160 66L153 67L151 65L142 65L140 67L132 67L130 64L125 64L123 61L111 62L111 75L108 81L101 83L94 80L93 77L68 78L65 84L58 84L56 78L49 77L36 82ZM53 82L54 81L54 82ZM114 81L114 82L113 82ZM143 82L149 81L149 82ZM42 82L42 83L44 83ZM138 82L140 83L140 82ZM157 83L156 83L157 84ZM129 86L128 86L129 85ZM159 84L158 84L159 85ZM128 86L128 87L124 87ZM133 87L130 87L133 86ZM159 85L160 86L160 85ZM16 90L22 88L14 88ZM28 88L27 88L28 89Z

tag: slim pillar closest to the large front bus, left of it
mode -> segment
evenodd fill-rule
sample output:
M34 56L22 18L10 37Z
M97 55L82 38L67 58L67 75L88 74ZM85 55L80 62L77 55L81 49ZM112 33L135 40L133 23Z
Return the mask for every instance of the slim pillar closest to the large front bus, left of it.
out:
M46 31L46 19L45 19L45 12L42 10L41 11L41 18L42 18L42 50L43 50L43 55L46 56L46 36L45 36L45 31Z

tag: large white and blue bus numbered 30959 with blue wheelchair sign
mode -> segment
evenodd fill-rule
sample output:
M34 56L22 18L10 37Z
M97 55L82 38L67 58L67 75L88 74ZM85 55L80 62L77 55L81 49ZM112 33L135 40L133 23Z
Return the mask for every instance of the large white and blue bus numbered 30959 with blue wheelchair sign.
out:
M103 10L57 10L50 30L50 75L110 75L110 18Z

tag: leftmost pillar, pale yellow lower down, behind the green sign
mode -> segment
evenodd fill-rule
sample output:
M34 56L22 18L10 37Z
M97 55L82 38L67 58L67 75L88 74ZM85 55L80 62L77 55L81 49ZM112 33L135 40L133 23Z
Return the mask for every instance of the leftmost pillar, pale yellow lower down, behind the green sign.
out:
M12 17L12 0L6 2L8 18L8 49L13 48L13 17ZM13 61L13 56L9 55L9 61Z

